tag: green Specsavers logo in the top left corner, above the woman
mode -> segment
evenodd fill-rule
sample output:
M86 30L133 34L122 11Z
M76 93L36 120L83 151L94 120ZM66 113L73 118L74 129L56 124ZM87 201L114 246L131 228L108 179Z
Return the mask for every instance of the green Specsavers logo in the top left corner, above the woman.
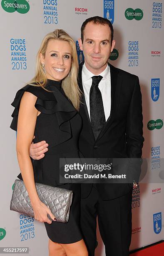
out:
M30 10L30 5L26 0L2 0L1 2L3 10L7 13L27 13Z

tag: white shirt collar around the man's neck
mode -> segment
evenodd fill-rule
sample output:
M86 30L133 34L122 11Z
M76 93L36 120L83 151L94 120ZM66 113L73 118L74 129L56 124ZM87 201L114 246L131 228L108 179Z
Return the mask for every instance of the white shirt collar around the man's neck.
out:
M90 72L87 67L84 65L82 66L82 80L85 82L88 79L90 79L91 77L95 76L94 74L92 74L92 72ZM102 76L104 79L110 81L110 68L109 65L107 65L106 69L99 74L99 76Z

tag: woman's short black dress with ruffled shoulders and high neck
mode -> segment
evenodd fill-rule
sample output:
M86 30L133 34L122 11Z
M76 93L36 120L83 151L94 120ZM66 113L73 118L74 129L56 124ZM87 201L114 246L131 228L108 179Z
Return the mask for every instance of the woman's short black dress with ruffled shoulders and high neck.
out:
M49 146L45 157L40 160L32 160L35 182L60 186L73 191L73 200L70 208L70 218L67 223L52 221L45 223L48 237L57 243L75 243L82 239L80 230L80 184L61 184L59 182L59 159L79 158L78 139L82 126L82 120L71 102L65 96L61 82L47 79L45 87L26 85L20 89L12 106L10 128L17 131L17 118L20 100L23 93L31 92L37 96L35 108L40 111L35 126L34 143L45 140ZM53 91L53 92L52 92ZM22 175L17 176L22 179Z

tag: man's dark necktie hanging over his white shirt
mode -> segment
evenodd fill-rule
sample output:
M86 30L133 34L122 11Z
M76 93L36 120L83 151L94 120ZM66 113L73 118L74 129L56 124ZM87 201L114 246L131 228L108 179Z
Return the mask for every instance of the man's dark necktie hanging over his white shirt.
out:
M95 140L97 140L97 137L105 123L102 94L98 87L101 79L102 76L92 77L92 86L89 92L90 120Z

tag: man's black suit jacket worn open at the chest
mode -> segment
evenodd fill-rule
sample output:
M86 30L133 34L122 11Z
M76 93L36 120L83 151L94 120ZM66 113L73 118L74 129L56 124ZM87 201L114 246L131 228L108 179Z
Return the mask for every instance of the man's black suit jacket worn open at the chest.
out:
M82 87L82 66L79 69L79 87ZM97 140L92 127L84 95L80 107L83 126L79 149L85 158L141 158L143 138L142 95L139 79L109 64L111 75L111 112ZM140 172L140 171L139 171ZM92 184L82 184L82 198L86 198ZM103 200L125 195L132 184L97 184Z

